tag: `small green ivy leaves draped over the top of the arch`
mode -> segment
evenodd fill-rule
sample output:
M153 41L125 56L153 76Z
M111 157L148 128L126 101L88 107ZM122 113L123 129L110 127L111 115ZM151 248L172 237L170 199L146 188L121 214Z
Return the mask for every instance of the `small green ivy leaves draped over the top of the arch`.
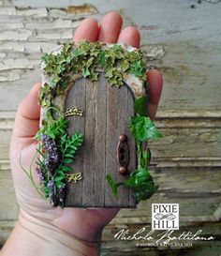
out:
M78 44L67 42L61 53L46 53L42 57L48 80L40 89L39 102L49 106L52 96L61 95L71 81L73 73L98 80L98 70L103 69L111 85L123 85L123 73L134 74L145 80L145 67L140 50L126 51L121 45L102 47L100 42L82 40Z

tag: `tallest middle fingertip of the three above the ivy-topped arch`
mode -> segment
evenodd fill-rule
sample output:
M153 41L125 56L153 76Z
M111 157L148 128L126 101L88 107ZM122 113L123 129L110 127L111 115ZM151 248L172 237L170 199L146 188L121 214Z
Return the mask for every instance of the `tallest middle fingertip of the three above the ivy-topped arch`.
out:
M120 34L123 19L116 12L106 14L100 23L98 40L106 43L115 43Z

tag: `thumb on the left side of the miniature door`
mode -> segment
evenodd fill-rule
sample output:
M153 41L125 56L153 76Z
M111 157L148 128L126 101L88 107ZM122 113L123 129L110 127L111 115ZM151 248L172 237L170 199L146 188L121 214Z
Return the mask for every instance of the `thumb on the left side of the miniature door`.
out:
M38 105L38 92L40 85L40 83L36 83L27 97L20 103L13 128L14 139L31 139L39 128L40 107Z

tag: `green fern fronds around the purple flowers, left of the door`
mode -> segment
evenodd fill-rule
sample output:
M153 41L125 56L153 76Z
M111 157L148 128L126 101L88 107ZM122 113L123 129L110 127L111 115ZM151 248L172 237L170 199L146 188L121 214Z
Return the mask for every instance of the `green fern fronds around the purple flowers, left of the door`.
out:
M54 108L51 108L54 109ZM52 118L48 115L48 118L44 121L44 126L37 131L35 138L39 141L39 148L37 149L40 158L37 158L37 166L42 170L42 175L44 177L41 182L41 193L46 197L50 198L50 188L48 188L49 183L52 182L53 185L53 198L61 191L62 188L66 186L66 173L72 171L69 164L74 162L74 155L76 154L78 148L83 143L83 136L81 133L74 133L72 136L66 133L67 121L65 116L60 113L57 119ZM46 151L41 143L42 135L47 135L55 142L56 147L60 153L60 163L55 168L52 176L49 175L46 161L47 158ZM64 201L59 202L61 207L64 207Z

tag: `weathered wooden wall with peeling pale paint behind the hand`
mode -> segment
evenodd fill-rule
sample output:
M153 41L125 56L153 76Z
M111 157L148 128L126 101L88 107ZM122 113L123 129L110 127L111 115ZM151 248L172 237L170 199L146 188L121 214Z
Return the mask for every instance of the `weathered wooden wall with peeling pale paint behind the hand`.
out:
M214 2L214 3L212 3ZM82 3L87 5L82 6ZM47 8L46 6L47 5ZM66 10L67 5L72 13ZM164 76L156 125L165 138L151 144L158 193L137 210L122 210L103 234L102 255L213 255L221 253L221 3L220 1L0 0L0 244L18 213L8 143L20 100L40 81L39 59L72 37L87 16L119 11L136 25L148 65ZM122 228L150 229L151 203L180 203L181 229L216 235L193 248L137 248L116 241ZM182 252L181 252L182 251Z

